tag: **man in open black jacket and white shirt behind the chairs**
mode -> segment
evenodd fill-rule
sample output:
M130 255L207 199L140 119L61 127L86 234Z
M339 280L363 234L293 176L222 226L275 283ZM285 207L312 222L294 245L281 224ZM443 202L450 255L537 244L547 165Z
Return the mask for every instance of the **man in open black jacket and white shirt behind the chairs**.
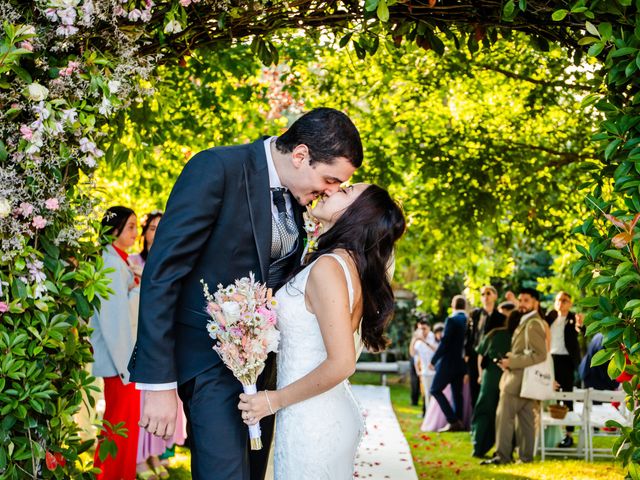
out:
M580 344L578 342L578 328L576 315L571 310L573 302L566 292L556 295L554 310L551 310L545 320L551 329L551 358L555 380L563 392L572 392L575 383L575 373L580 364ZM573 410L573 402L565 405ZM560 448L573 446L574 427L566 427L566 435L558 445Z

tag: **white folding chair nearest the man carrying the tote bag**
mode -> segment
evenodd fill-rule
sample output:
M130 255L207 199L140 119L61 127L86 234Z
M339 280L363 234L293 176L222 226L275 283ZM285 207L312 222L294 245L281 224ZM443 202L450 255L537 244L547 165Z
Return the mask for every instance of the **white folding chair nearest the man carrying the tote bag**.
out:
M587 397L589 392L585 389L575 389L572 392L554 392L551 401L572 401L573 410L569 410L567 415L563 419L553 418L548 411L545 411L543 402L540 402L540 429L539 445L540 445L540 457L544 461L546 456L567 456L576 455L588 458L589 444L587 440ZM559 448L559 447L546 447L544 442L545 429L550 426L559 427L580 427L578 432L578 442L576 448Z

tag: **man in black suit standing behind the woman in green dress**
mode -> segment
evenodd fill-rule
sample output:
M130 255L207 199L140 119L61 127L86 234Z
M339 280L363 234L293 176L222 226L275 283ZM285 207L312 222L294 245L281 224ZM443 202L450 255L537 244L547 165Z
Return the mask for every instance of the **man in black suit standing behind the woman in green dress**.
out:
M498 291L493 285L485 285L480 289L481 308L475 308L469 316L467 335L465 339L465 360L469 374L469 388L471 389L471 404L475 405L480 393L478 382L478 345L491 330L504 325L505 316L496 308Z

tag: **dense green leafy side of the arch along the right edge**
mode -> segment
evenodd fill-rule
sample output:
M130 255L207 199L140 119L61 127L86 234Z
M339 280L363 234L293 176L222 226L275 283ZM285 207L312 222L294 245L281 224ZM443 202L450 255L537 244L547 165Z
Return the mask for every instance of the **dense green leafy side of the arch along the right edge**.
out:
M628 475L640 478L640 244L636 222L640 215L640 12L637 2L579 2L572 9L575 21L584 23L586 35L580 45L589 45L588 54L603 62L601 72L606 91L585 99L605 118L592 136L599 145L604 166L595 170L583 187L590 188L585 222L575 228L588 247L578 246L581 258L574 264L580 288L590 292L580 304L588 311L587 333L604 335L604 350L592 365L608 363L612 378L624 381L627 407L635 412L633 428L621 429L614 453L629 466ZM556 11L560 20L566 12ZM606 21L605 17L608 17Z

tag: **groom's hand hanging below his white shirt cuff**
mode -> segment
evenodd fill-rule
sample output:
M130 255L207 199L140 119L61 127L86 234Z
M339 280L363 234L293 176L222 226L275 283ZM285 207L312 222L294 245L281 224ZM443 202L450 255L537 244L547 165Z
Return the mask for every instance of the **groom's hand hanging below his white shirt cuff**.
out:
M144 392L142 415L138 425L156 437L169 440L176 429L178 397L176 389Z

